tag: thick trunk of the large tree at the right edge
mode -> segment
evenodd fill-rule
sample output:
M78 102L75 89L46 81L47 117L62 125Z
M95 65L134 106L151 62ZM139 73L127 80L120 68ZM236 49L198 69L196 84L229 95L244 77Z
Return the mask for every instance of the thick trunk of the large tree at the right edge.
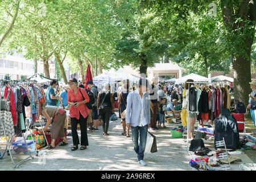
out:
M256 1L221 1L223 21L232 46L234 96L248 104L251 46L255 35Z

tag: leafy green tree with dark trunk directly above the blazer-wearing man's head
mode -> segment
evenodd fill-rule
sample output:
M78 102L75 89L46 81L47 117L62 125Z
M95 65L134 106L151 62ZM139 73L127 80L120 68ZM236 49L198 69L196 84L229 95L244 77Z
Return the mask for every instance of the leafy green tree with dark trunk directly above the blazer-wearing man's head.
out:
M147 75L147 68L154 67L159 57L167 51L168 43L165 38L151 39L152 31L159 26L159 19L149 10L139 10L134 7L134 16L127 20L129 26L122 31L121 38L116 40L114 52L115 67L132 65L139 72ZM125 23L125 22L123 22ZM154 28L150 28L154 26Z

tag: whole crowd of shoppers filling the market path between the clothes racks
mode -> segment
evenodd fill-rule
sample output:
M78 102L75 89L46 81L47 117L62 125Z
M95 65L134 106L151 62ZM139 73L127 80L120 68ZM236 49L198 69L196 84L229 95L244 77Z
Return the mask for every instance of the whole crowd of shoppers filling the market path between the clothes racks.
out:
M63 138L60 146L68 144L63 133L66 117L64 109L67 106L70 107L72 151L77 150L79 144L80 150L85 150L88 146L88 126L89 131L93 131L98 130L98 126L102 125L102 134L108 136L110 115L115 113L114 101L117 97L119 118L121 118L123 128L121 135L130 137L131 130L138 162L146 166L143 158L147 131L148 129L165 129L167 112L171 112L174 118L183 119L182 116L187 114L186 108L189 99L187 82L193 82L193 80L187 80L183 85L159 83L158 77L152 78L151 82L146 78L141 78L133 85L129 80L123 80L118 83L115 96L115 94L110 93L108 82L100 90L92 81L82 84L76 78L71 78L63 88L56 89L57 82L52 80L46 90L46 106L42 106L42 115L47 119L44 129L47 129L53 122L51 127L52 143L49 148L55 148L54 142L57 135ZM252 85L254 91L251 95L255 92L255 82ZM59 101L59 106L57 101ZM253 101L253 98L250 101ZM57 117L51 119L56 113ZM188 113L188 118L184 118L188 119L187 122L189 123L188 138L193 139L193 125L196 122L196 115L195 113ZM78 123L80 123L81 143L77 134Z

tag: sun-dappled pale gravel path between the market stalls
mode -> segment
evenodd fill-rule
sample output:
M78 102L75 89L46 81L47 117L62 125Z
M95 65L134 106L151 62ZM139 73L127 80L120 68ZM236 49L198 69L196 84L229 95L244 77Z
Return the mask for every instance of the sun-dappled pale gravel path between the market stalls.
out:
M110 123L109 136L102 135L101 126L100 130L88 132L89 146L86 150L71 151L72 137L69 137L67 146L57 146L51 151L42 150L39 152L39 156L33 154L34 159L20 164L18 168L14 168L10 156L5 155L0 160L0 170L195 170L188 165L191 155L187 152L187 144L184 139L171 137L170 127L174 124L167 123L166 126L167 129L152 131L152 134L156 136L158 152L144 155L146 167L138 164L131 137L127 138L121 135L122 124L118 118L117 121ZM213 150L212 146L213 144L205 143L205 147ZM16 155L15 161L19 161L20 157L24 156L26 155ZM244 152L238 156L242 159L240 163L253 163ZM232 164L232 170L240 170L240 163Z

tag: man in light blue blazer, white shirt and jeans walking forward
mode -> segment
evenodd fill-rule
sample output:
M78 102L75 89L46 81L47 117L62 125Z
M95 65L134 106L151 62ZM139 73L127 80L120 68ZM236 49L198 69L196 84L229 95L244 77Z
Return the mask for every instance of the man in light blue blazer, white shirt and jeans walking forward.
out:
M125 118L126 126L131 127L137 160L142 166L146 166L143 158L146 147L147 129L150 127L150 94L146 92L147 86L147 80L141 78L138 89L129 93Z

